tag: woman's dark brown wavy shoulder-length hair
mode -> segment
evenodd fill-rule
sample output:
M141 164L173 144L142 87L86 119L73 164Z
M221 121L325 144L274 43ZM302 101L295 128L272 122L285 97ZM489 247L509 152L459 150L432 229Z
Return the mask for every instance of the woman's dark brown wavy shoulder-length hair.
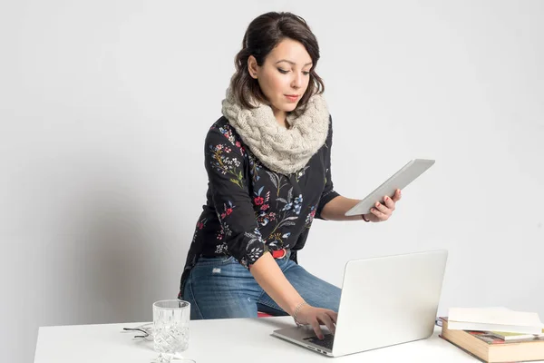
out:
M260 66L265 63L267 55L277 44L286 38L303 44L313 63L309 74L308 88L293 113L304 113L306 103L310 97L315 93L325 91L325 84L315 71L319 60L319 45L317 44L316 35L312 33L306 21L300 16L291 13L270 12L257 16L248 25L248 30L242 41L242 49L235 58L236 73L230 80L230 86L237 102L243 107L255 108L255 104L251 103L252 99L267 103L267 98L262 93L257 80L249 75L249 56L253 55Z

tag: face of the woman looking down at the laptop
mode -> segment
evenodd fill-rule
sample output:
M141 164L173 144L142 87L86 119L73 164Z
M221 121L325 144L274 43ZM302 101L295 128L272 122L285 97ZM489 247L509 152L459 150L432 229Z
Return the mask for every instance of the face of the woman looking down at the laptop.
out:
M310 81L312 58L303 44L286 38L277 44L262 66L248 59L249 74L256 78L277 118L295 110ZM279 116L279 117L278 117Z

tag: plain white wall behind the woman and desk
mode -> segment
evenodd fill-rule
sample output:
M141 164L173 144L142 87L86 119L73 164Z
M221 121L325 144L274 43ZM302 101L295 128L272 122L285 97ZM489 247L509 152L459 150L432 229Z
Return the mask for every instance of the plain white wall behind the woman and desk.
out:
M5 1L3 361L32 361L39 326L150 320L176 296L204 136L270 10L320 42L337 191L362 198L409 159L437 160L391 221L316 222L301 263L341 284L348 259L446 248L441 314L544 319L544 2Z

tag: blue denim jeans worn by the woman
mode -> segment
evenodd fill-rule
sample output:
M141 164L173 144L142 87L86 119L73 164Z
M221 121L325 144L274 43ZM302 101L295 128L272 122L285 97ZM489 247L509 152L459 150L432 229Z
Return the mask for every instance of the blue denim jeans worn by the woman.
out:
M338 311L340 289L288 257L276 260L277 265L302 298L316 308ZM257 310L288 315L233 257L200 258L189 273L183 299L190 302L191 319L257 318Z

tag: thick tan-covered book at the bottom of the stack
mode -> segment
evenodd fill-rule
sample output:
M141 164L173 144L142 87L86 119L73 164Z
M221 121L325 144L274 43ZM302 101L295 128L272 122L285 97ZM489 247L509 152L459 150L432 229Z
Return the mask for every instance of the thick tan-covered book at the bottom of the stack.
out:
M476 358L488 363L544 360L544 338L503 340L489 331L448 328L448 318L441 317L440 337Z

